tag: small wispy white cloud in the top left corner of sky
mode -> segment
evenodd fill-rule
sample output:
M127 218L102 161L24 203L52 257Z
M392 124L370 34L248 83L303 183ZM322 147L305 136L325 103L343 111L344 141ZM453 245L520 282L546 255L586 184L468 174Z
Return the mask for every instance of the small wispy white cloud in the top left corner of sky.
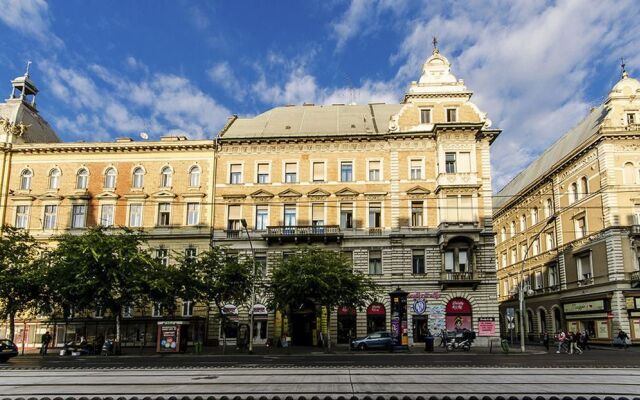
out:
M0 0L0 20L10 28L54 47L62 40L51 32L49 5L44 0Z

